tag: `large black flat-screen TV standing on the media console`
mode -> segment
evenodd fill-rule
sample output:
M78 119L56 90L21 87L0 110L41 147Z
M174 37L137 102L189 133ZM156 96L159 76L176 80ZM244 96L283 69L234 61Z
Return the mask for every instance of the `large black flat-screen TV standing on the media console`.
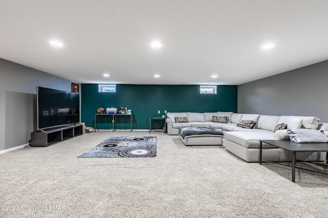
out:
M37 87L37 129L79 122L78 93Z

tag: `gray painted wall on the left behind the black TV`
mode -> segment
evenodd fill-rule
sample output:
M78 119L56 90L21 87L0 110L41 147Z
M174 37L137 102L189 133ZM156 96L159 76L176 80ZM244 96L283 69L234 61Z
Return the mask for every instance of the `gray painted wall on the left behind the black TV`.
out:
M71 91L71 81L0 58L0 151L29 143L36 86Z

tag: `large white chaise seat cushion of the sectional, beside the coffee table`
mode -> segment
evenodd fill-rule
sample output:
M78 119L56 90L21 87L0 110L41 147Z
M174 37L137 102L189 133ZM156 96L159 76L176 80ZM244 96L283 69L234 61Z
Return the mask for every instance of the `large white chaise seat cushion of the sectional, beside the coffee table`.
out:
M239 144L244 148L260 148L259 140L275 140L274 133L271 131L258 132L226 132L226 140ZM277 148L266 143L262 144L263 148Z

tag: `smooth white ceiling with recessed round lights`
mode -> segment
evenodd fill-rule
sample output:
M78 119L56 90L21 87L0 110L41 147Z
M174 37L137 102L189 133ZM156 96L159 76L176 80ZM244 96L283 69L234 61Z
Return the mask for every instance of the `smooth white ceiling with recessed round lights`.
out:
M327 60L327 39L327 0L0 1L0 58L76 83L239 85Z

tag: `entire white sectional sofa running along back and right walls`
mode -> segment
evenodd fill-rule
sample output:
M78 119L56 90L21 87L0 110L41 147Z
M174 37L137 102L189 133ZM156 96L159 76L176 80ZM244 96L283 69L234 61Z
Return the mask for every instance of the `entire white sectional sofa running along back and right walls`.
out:
M177 135L179 127L206 126L222 130L226 150L247 162L259 161L259 140L289 140L287 129L276 130L278 124L286 124L288 129L317 129L328 131L328 124L319 123L314 116L271 116L259 114L241 114L232 112L213 113L168 113L167 130L169 135ZM202 115L202 116L201 116ZM210 117L228 116L229 123L214 123ZM177 123L175 117L187 117L187 123ZM256 125L252 129L237 126L241 120L252 120ZM291 152L263 143L263 160L291 161ZM298 153L296 158L305 161L323 161L326 153Z

